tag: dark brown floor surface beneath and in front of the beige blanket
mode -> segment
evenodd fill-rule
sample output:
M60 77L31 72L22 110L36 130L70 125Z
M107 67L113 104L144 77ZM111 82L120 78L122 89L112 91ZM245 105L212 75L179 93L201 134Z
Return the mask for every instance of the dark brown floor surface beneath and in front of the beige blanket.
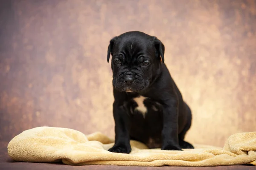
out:
M0 142L0 170L256 170L255 166L237 165L221 167L125 167L109 165L71 166L53 163L31 163L13 161L7 153L8 142Z

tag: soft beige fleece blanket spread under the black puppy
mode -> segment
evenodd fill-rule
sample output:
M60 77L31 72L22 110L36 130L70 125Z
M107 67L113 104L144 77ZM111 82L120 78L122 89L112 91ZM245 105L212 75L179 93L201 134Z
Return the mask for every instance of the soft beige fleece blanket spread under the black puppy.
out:
M8 144L9 156L16 161L56 162L70 165L124 166L218 166L256 165L256 132L237 133L223 148L194 145L195 149L169 151L148 149L131 141L130 154L111 153L113 140L102 133L83 133L60 127L36 127L15 136Z

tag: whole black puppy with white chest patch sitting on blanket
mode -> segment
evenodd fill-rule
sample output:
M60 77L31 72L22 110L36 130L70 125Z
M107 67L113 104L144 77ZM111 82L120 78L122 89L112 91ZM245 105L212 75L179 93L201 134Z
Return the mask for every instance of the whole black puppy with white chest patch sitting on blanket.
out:
M164 64L164 50L157 37L140 31L110 41L116 136L109 151L130 153L130 139L162 150L193 148L184 141L191 111Z

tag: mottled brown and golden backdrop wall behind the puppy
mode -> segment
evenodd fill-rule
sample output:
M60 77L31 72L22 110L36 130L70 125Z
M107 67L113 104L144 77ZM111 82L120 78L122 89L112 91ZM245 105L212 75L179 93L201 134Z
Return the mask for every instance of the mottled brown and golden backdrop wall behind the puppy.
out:
M109 40L157 36L193 111L187 140L256 130L255 0L1 0L0 140L37 126L114 136Z

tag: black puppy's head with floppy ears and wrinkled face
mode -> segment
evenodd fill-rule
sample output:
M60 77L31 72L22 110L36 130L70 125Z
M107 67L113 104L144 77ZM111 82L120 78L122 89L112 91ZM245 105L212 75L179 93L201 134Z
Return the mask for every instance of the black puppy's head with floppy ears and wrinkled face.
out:
M108 45L113 72L113 87L117 91L142 92L148 88L164 62L164 45L157 37L140 31L130 31L113 37Z

